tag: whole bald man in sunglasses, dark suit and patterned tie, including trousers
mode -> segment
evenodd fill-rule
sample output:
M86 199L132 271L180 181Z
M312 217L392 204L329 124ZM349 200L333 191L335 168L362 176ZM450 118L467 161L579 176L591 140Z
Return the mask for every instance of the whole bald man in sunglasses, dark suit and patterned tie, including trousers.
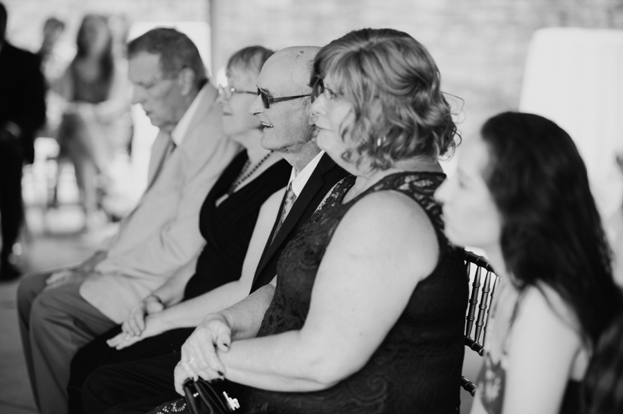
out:
M258 328L274 292L269 282L277 274L282 250L335 183L347 175L313 140L316 127L311 123L309 74L318 50L298 46L271 56L258 79L258 98L249 108L249 113L264 125L262 147L279 153L292 165L283 198L270 200L276 203L274 209L279 213L253 281L252 292L258 292L251 303L258 305L253 308ZM105 413L113 406L117 406L115 412L118 408L125 414L145 413L176 399L179 395L174 390L173 370L179 360L178 350L163 357L99 368L82 387L84 413Z

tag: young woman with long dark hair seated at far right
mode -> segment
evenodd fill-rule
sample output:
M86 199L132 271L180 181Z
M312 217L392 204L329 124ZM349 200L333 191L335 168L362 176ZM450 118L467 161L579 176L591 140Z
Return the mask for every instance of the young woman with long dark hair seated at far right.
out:
M579 411L579 383L621 306L586 168L545 118L501 113L437 190L446 235L487 252L500 283L472 413Z

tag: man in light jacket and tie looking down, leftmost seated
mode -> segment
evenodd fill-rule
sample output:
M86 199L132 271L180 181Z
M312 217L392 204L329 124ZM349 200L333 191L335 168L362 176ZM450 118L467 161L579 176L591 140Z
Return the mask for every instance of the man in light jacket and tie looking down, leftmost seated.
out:
M162 305L150 292L188 279L204 245L199 209L238 151L221 131L217 91L192 41L159 28L130 42L129 79L160 133L149 184L107 250L19 285L19 322L41 413L66 413L69 364L94 337L123 322L136 303Z

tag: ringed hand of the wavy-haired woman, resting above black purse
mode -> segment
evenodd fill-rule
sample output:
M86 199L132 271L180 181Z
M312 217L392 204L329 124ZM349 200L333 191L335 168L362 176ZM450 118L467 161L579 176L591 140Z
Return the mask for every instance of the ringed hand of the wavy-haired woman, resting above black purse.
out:
M223 378L225 366L219 359L217 350L227 352L230 344L231 328L228 321L222 314L209 314L182 345L182 357L175 375L178 392L187 378Z

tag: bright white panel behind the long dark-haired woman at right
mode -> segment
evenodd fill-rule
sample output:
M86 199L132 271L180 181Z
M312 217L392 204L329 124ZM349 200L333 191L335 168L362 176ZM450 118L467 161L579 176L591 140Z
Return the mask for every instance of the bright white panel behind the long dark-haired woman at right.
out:
M623 30L547 28L530 42L520 111L548 117L575 141L607 219L623 201Z

